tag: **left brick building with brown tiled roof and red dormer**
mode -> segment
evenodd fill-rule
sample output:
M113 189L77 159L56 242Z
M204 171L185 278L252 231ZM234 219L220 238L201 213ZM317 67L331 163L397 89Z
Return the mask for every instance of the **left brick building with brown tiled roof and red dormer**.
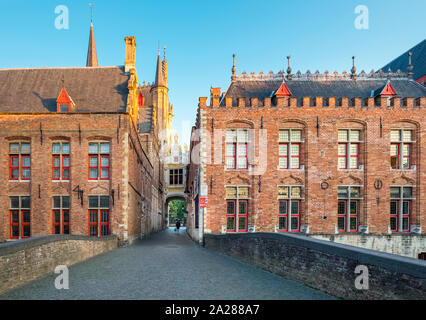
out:
M163 224L150 220L159 182L137 127L135 51L126 37L125 64L98 66L92 24L87 67L0 70L0 241L127 243Z

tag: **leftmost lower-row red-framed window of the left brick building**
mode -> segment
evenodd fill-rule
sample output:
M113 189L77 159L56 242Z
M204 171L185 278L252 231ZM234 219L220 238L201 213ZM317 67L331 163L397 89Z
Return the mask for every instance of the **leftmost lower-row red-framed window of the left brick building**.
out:
M9 197L10 239L31 237L31 202L28 196Z

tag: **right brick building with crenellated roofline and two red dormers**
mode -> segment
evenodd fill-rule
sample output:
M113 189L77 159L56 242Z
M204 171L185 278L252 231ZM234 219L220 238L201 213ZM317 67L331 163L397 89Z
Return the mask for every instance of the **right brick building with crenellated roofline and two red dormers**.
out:
M426 88L401 71L357 73L354 62L350 73L292 74L289 63L287 74L237 75L234 60L229 88L199 99L188 186L199 170L208 193L197 223L204 233L350 234L353 245L361 234L424 235L425 116Z

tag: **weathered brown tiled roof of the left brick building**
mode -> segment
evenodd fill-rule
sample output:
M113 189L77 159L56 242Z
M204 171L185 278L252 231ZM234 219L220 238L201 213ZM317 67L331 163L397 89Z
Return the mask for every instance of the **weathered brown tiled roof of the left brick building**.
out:
M65 89L76 112L125 112L130 75L124 66L0 69L0 112L56 112Z

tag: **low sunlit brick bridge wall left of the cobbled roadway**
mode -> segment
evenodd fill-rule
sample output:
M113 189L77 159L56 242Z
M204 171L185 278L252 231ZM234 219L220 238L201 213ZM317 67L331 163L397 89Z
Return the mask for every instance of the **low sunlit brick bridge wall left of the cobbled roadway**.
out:
M54 235L0 244L0 294L118 247L116 236ZM52 283L52 286L54 284Z

